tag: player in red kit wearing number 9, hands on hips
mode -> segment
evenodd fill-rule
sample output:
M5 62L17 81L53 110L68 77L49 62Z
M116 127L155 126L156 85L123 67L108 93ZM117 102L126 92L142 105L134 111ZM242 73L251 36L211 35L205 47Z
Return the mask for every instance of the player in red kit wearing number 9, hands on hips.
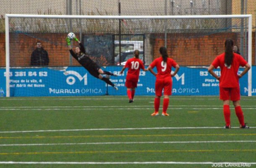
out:
M162 56L156 58L148 67L148 70L156 76L156 97L154 100L155 112L151 114L151 116L158 116L162 89L164 89L162 116L169 116L166 111L169 105L169 95L172 95L172 77L178 73L180 67L172 58L168 58L167 50L164 46L162 46L159 51ZM157 74L152 70L154 67L156 67L158 71ZM174 73L171 73L172 67L175 68Z

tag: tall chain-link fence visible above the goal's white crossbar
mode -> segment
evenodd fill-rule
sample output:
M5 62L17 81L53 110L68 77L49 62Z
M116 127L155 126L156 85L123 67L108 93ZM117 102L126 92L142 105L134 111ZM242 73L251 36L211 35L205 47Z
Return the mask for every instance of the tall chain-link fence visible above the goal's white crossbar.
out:
M36 15L253 14L253 28L256 25L255 0L1 0L0 32L4 32L5 13Z

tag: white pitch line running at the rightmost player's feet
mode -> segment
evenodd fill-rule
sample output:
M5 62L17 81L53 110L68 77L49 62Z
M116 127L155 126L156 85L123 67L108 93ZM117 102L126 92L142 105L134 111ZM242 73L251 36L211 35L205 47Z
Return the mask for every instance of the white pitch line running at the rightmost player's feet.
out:
M239 128L239 127L232 127ZM250 126L251 128L256 128ZM220 126L212 127L160 127L160 128L92 128L92 129L74 129L74 130L21 130L21 131L2 131L1 133L26 133L26 132L72 132L72 131L101 131L101 130L183 130L183 129L223 129ZM240 129L240 128L239 128Z

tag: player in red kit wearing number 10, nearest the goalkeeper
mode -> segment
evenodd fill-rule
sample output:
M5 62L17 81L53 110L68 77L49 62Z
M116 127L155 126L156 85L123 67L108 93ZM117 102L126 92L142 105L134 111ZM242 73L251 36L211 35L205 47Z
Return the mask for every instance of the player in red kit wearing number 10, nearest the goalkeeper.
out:
M127 87L127 96L129 97L129 103L133 102L133 97L135 95L135 88L139 80L139 70L148 71L145 69L143 62L139 59L139 50L134 51L133 58L127 60L125 66L121 70L120 74L123 74L126 68L128 68L128 73L125 81L125 86Z

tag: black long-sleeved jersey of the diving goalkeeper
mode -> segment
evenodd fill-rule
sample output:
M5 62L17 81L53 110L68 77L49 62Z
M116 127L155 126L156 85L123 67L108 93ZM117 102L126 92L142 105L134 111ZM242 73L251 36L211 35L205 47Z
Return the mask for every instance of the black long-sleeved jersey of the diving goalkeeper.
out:
M79 43L81 54L77 55L73 50L69 50L70 54L75 58L85 69L90 70L93 67L98 67L96 62L91 60L91 58L86 54L86 50L83 44Z

